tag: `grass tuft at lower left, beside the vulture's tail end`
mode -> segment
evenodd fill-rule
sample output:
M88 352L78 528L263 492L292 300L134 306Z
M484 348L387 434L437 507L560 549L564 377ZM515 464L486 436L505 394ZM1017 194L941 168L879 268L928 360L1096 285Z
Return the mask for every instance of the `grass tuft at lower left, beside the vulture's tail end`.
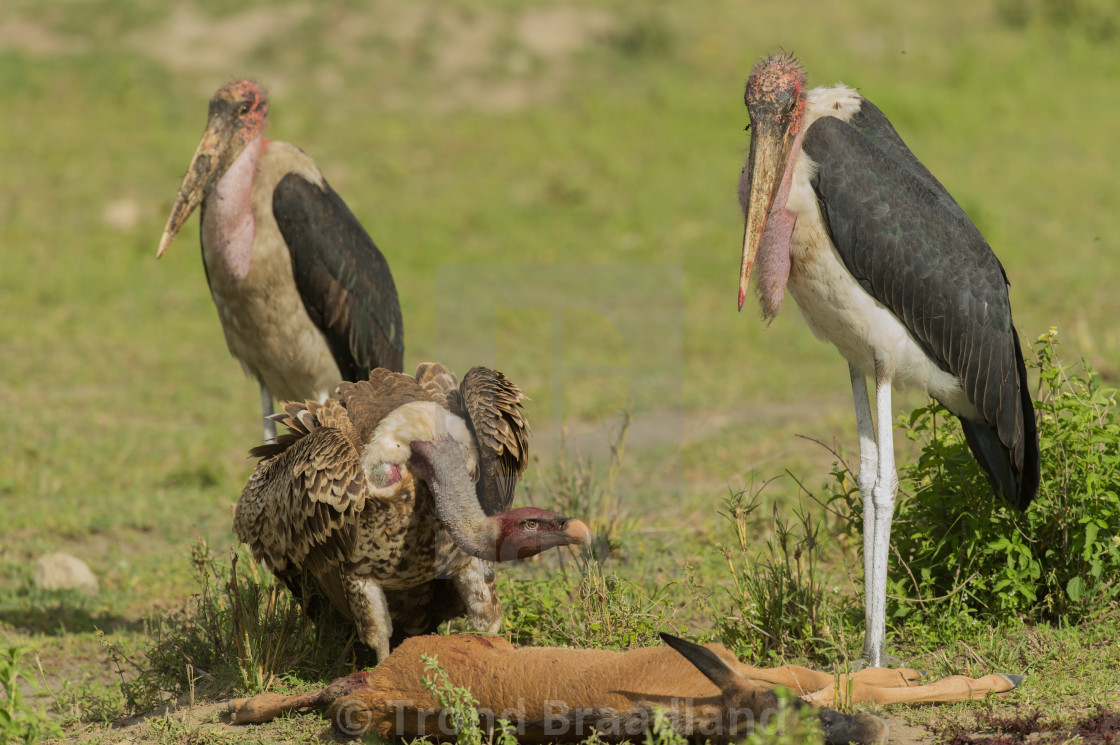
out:
M316 623L269 572L231 552L217 561L205 541L192 548L199 584L193 607L157 620L149 631L147 667L119 653L125 701L133 711L153 708L167 696L255 695L280 680L336 678L347 671L353 636ZM124 663L124 664L122 664ZM124 665L136 668L125 680Z

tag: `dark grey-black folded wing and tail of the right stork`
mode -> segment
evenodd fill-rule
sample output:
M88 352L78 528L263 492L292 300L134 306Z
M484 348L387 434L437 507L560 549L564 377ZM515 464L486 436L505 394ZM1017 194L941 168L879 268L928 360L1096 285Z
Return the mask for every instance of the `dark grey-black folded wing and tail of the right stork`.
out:
M822 117L803 149L840 258L942 370L982 421L961 418L993 488L1019 509L1038 488L1038 436L1007 277L980 231L883 113Z

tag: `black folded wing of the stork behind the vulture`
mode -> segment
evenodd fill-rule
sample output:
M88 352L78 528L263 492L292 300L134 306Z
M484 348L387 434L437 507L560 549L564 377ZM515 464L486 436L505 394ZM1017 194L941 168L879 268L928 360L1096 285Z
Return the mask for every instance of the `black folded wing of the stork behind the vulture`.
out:
M319 188L288 174L272 193L272 214L304 306L343 379L364 380L374 367L401 372L404 329L393 274L342 197L326 179Z

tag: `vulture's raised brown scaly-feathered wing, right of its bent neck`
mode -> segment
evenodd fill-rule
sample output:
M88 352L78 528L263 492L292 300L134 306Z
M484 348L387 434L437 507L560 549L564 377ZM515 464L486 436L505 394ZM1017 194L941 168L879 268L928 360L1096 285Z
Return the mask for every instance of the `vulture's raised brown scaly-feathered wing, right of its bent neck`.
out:
M451 413L463 417L478 443L478 503L488 514L513 505L517 479L529 465L532 430L521 401L525 394L504 373L472 367L448 397Z

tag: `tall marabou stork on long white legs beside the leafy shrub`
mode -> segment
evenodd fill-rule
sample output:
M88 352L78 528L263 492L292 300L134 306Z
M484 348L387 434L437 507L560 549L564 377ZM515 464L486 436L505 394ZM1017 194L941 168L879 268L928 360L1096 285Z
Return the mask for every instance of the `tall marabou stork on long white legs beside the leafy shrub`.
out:
M1038 432L1007 277L964 211L853 89L806 92L801 63L776 55L750 71L744 99L739 309L757 263L764 318L788 286L809 327L848 361L864 499L864 655L879 665L898 491L892 383L927 391L960 418L992 488L1012 505L1026 510L1038 490Z

